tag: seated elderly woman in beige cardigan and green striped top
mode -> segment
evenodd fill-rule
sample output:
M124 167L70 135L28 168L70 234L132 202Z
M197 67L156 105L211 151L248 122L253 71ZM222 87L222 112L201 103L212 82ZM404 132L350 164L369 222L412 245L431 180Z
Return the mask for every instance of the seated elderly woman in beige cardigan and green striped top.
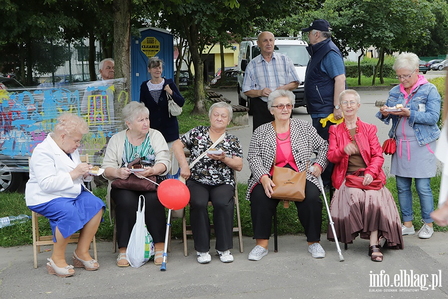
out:
M138 197L145 197L145 223L154 240L154 264L161 265L165 241L165 208L155 191L135 191L111 188L117 178L126 179L134 175L127 164L137 157L142 158L144 171L140 176L165 175L171 167L168 146L159 131L149 128L149 111L142 103L130 102L124 106L121 116L128 129L112 136L106 149L102 167L109 179L107 201L110 216L115 217L119 254L118 267L127 267L126 248L136 220ZM112 199L112 200L111 200Z

